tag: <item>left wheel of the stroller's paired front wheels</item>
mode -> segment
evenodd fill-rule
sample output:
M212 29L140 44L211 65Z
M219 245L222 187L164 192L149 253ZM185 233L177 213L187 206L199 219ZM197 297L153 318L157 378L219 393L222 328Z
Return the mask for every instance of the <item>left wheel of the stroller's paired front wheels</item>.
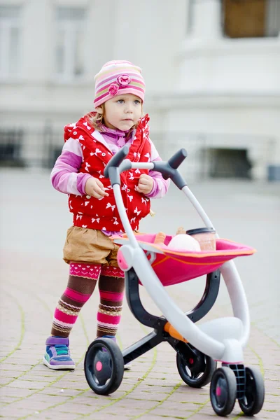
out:
M237 381L230 367L219 367L211 379L210 399L218 416L228 416L235 407Z

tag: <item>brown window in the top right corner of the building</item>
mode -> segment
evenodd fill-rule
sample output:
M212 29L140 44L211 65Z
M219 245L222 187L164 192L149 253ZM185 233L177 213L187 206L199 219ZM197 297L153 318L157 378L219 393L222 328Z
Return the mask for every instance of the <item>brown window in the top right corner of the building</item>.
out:
M223 0L225 36L248 38L278 36L279 0Z

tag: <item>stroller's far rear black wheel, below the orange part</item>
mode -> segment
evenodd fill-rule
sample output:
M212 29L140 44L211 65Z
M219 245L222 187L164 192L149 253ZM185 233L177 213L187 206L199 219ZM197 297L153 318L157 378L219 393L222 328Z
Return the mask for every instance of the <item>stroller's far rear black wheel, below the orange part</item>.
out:
M201 388L209 384L211 377L214 374L217 363L204 353L198 351L193 346L191 347L193 353L185 358L177 353L176 363L178 372L188 386L193 388Z

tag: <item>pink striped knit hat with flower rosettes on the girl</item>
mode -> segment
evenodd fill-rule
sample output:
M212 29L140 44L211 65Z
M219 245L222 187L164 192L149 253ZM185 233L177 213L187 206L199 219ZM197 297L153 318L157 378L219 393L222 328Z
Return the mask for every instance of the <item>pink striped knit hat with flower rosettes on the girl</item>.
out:
M141 69L128 61L107 62L94 76L94 80L95 107L104 104L117 94L125 93L133 93L144 102L145 82Z

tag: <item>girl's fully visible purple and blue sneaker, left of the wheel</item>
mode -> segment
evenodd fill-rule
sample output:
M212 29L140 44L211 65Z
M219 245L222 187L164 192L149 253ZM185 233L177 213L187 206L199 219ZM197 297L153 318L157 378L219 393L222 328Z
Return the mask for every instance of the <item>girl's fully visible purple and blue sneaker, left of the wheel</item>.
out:
M75 369L75 363L70 357L69 338L51 336L46 342L45 356L43 356L44 365L50 369Z

